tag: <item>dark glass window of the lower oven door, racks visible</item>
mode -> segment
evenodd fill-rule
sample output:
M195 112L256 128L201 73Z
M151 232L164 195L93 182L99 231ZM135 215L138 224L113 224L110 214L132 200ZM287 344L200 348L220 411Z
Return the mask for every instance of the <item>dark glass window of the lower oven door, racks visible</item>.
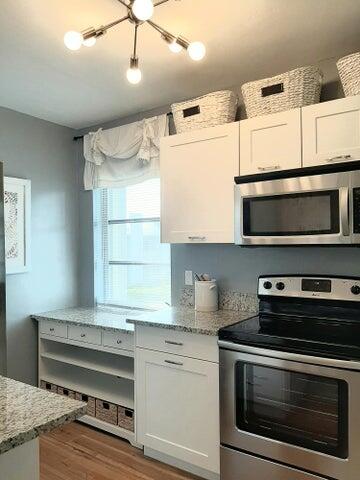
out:
M243 362L235 368L240 430L347 458L345 381Z

